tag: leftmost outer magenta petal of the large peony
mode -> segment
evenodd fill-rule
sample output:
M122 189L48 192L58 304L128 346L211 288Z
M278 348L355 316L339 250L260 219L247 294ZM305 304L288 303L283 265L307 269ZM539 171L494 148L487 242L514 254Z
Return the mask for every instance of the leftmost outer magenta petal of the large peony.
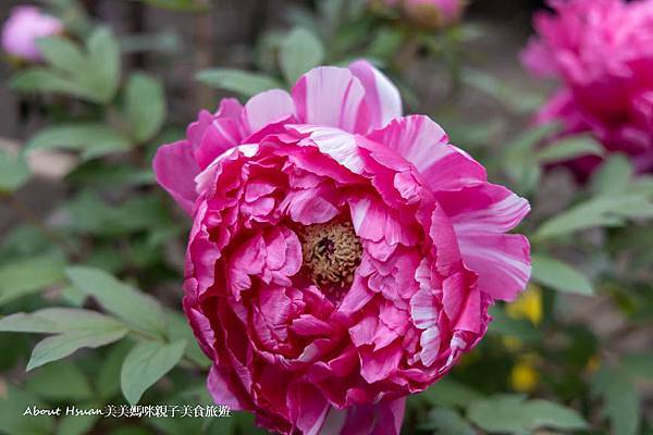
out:
M159 184L186 213L193 214L197 198L195 177L199 174L199 166L195 162L190 144L180 140L159 148L153 170Z

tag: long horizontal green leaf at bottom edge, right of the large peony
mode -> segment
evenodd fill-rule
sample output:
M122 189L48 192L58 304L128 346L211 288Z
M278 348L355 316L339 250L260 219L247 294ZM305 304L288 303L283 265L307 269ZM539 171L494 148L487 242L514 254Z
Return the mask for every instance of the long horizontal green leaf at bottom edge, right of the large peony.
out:
M543 427L565 431L587 427L587 422L575 410L547 400L526 400L521 395L476 400L467 415L490 433L528 434Z

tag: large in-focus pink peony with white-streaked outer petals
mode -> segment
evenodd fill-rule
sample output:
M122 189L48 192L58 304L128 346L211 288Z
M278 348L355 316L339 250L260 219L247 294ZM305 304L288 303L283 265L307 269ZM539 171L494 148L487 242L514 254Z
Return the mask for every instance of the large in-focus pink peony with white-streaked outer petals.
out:
M215 402L269 430L398 434L530 275L528 202L365 61L201 112L161 147L194 220L184 309Z

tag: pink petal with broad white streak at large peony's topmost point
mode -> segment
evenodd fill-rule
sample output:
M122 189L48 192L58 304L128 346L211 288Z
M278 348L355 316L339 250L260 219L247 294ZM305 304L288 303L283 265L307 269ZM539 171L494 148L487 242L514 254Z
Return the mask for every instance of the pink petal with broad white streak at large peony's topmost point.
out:
M381 128L393 119L402 116L402 97L386 76L365 60L356 61L348 67L365 88L365 101L370 111L372 128Z

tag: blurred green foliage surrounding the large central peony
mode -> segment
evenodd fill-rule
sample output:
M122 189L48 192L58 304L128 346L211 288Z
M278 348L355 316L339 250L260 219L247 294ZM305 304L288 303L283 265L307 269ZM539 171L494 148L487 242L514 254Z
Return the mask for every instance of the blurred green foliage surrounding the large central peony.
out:
M246 413L22 413L210 403L208 360L180 310L188 222L155 186L153 151L221 96L246 99L360 57L399 85L406 112L430 114L533 206L519 228L532 243L531 285L493 307L488 337L449 376L410 398L403 433L653 433L653 178L634 176L619 154L586 186L551 170L602 148L586 135L540 147L557 129L530 123L547 86L513 79L520 42L500 55L507 74L483 53L505 22L479 7L469 22L427 32L364 1L296 1L272 16L254 8L251 32L230 41L219 26L231 3L125 1L132 26L98 3L46 2L66 35L39 42L42 65L3 79L17 98L13 135L25 140L0 148L1 433L257 433ZM192 44L178 34L188 28L144 28L150 13L186 23ZM51 184L54 201L45 198Z

